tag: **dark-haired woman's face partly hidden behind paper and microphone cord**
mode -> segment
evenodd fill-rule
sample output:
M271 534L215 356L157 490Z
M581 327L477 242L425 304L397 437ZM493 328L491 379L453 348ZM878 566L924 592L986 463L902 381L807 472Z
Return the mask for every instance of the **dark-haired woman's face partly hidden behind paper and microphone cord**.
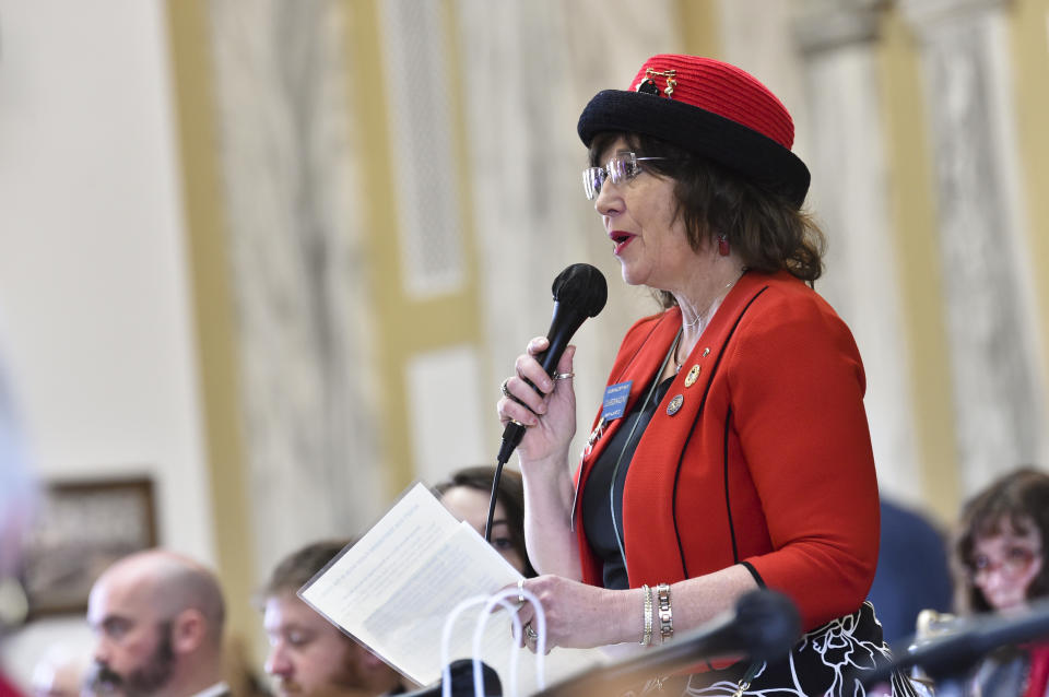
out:
M445 508L470 523L482 537L494 476L494 466L464 468L434 487ZM499 475L492 516L492 546L526 578L537 576L524 548L524 484L520 472L504 469Z

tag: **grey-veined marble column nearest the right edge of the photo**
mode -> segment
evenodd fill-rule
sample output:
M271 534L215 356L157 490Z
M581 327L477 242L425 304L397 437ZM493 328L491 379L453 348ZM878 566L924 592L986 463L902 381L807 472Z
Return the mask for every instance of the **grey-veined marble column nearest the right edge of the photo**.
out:
M1007 0L905 0L921 51L964 491L1046 454Z

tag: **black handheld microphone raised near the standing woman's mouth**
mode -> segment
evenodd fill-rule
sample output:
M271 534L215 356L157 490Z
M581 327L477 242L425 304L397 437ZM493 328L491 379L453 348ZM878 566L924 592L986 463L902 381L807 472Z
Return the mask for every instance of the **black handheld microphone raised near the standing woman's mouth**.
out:
M604 309L604 304L609 299L609 284L604 275L594 267L588 263L574 263L557 274L551 292L554 295L554 316L546 332L550 346L535 356L549 376L554 375L571 335L576 333L584 320L588 317L597 317L598 312ZM499 465L509 461L510 454L523 437L524 426L514 421L506 425L497 458Z

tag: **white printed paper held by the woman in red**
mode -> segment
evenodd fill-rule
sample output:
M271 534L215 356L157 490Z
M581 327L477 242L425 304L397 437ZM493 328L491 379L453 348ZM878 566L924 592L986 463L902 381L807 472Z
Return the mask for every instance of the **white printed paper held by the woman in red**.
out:
M445 621L460 602L517 583L521 575L475 530L460 523L423 484L409 488L352 547L343 550L299 591L317 612L409 680L440 680ZM448 661L472 658L480 607L464 612L451 633ZM518 654L518 694L538 688L535 657L518 648L505 611L488 618L482 654L511 693L510 658ZM597 650L555 648L545 657L546 684L600 663Z

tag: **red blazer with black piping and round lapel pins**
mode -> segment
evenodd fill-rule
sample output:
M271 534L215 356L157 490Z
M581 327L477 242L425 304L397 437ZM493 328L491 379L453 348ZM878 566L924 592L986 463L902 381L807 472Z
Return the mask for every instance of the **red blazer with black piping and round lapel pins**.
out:
M643 398L680 327L675 307L627 332L609 378L609 385L634 381L627 410ZM699 378L685 387L694 365ZM806 630L854 612L874 578L879 543L864 389L852 334L823 298L786 272L744 274L630 462L623 495L630 586L744 563L759 582L798 603ZM675 395L684 401L669 415ZM622 422L612 422L584 458L577 491ZM600 586L601 563L581 511L573 516L584 580Z

